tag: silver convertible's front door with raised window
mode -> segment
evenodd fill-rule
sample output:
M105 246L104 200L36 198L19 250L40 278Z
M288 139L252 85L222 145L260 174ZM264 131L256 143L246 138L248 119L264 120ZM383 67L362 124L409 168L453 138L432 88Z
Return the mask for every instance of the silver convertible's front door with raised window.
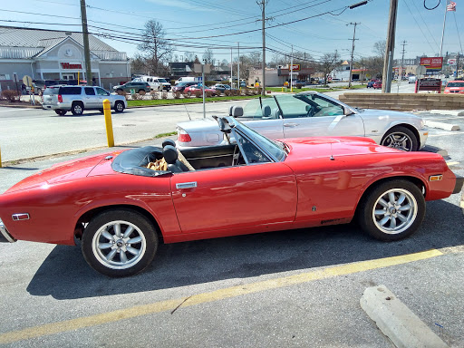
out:
M343 106L317 94L275 96L284 117L285 138L364 136L357 114L344 115Z

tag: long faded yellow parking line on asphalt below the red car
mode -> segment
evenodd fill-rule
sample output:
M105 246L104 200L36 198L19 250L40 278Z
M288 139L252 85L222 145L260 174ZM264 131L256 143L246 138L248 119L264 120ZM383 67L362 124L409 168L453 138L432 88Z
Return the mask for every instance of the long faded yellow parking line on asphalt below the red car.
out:
M154 304L136 305L130 308L124 308L108 313L95 314L81 318L66 320L63 322L29 327L24 330L12 331L9 333L1 333L0 343L14 343L54 333L64 333L89 326L118 322L124 319L130 319L141 315L172 311L174 309L177 309L177 307L179 307L179 304L181 304L181 307L189 307L191 305L197 304L206 304L208 302L237 297L240 295L255 294L280 287L299 285L303 283L312 282L314 280L330 278L337 275L350 275L353 273L365 272L372 269L407 264L410 262L424 260L430 257L440 255L442 255L442 253L439 250L432 249L416 254L379 258L376 260L361 261L342 266L326 267L323 269L314 270L312 272L307 272L299 275L288 275L281 278L264 280L261 282L251 283L247 285L227 287L225 289L219 289L209 293L192 295L187 300L185 298L178 298L175 300L160 301Z

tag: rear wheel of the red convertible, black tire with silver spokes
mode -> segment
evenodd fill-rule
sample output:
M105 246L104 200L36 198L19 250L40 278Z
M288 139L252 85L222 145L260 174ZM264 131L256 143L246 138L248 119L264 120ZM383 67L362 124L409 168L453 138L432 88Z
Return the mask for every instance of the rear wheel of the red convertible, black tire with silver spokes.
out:
M148 218L131 209L115 208L92 218L83 232L82 254L102 275L129 276L150 265L158 244L156 229Z

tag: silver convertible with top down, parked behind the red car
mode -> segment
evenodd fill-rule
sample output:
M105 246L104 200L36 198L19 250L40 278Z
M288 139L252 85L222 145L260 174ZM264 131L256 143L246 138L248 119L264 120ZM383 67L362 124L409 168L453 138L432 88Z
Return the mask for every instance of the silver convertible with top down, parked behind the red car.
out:
M277 94L230 108L230 116L270 139L313 136L368 137L405 151L425 146L429 131L420 117L408 112L356 109L318 92ZM218 122L179 122L177 146L189 149L223 141Z

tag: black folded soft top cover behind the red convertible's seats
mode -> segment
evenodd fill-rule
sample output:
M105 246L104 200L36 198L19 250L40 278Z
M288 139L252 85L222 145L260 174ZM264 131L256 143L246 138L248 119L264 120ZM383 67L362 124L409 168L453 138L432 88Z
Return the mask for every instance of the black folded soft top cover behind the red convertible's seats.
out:
M121 152L111 163L114 171L124 174L139 175L142 177L157 177L170 173L169 170L152 170L147 165L163 157L163 151L156 146L131 149Z

